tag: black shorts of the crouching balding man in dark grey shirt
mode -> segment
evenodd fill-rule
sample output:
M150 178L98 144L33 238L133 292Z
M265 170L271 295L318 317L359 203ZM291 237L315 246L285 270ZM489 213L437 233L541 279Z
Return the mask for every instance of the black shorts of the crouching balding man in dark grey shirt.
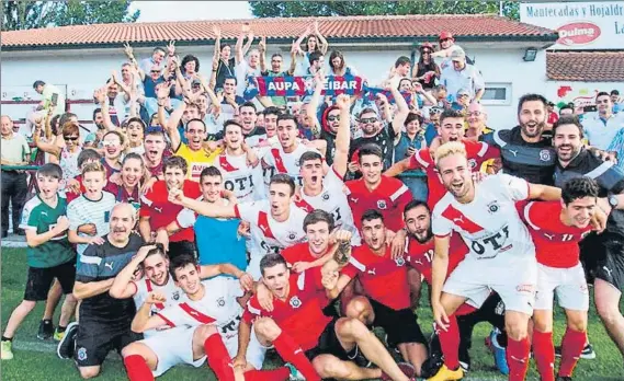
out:
M78 324L73 359L79 367L100 366L111 349L121 354L126 345L140 339L143 335L132 332L129 322L127 328L120 330L81 320Z

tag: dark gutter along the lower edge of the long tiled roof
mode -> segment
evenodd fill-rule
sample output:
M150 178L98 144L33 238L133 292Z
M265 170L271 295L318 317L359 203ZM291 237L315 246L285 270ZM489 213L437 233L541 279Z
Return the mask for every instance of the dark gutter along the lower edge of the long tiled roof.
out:
M473 43L473 42L536 42L536 43L555 43L559 38L557 33L541 34L541 35L479 35L479 36L456 36L455 42ZM413 45L438 41L438 35L430 36L392 36L392 37L339 37L327 38L329 44L349 44L349 43L412 43ZM154 41L154 42L136 42L131 43L133 47L155 47L166 46L169 41ZM235 44L236 39L222 39L222 44ZM291 45L293 38L266 38L266 44L287 44ZM29 51L29 50L72 50L72 49L94 49L94 48L122 48L124 42L118 43L89 43L89 44L58 44L58 45L16 45L16 46L1 46L2 51ZM197 45L214 45L212 38L194 39L194 41L177 41L175 46L197 46Z

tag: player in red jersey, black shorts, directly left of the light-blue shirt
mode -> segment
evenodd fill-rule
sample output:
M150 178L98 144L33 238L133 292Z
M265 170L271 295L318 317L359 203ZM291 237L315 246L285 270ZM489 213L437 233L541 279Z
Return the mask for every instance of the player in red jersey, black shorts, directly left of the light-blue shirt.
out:
M169 203L169 194L180 190L185 196L197 198L202 195L197 183L185 180L188 166L181 157L171 157L164 160L162 165L164 180L157 181L141 198L139 210L139 232L146 242L151 242L152 232L166 228L178 218L182 210L179 205ZM193 229L182 229L169 238L169 256L180 254L195 255L195 235Z

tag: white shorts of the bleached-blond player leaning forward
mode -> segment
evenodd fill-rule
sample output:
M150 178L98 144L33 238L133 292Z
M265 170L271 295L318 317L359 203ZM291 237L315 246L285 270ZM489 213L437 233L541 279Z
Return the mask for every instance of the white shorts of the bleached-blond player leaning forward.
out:
M533 315L537 266L535 257L501 261L464 259L451 273L442 289L446 293L467 298L467 303L480 308L491 291L496 291L506 311L518 311Z

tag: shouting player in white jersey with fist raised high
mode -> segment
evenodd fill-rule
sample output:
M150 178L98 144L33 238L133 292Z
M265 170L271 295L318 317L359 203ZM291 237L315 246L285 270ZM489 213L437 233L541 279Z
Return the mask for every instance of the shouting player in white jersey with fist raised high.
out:
M353 212L343 192L344 174L349 160L349 137L351 126L349 124L350 99L348 95L338 95L336 104L340 112L340 126L336 137L336 157L333 164L324 178L322 157L318 152L305 152L302 154L300 175L303 187L299 188L300 201L297 206L308 212L314 209L322 209L333 216L336 226L348 230L353 234L352 244L360 245L360 234L353 222Z

